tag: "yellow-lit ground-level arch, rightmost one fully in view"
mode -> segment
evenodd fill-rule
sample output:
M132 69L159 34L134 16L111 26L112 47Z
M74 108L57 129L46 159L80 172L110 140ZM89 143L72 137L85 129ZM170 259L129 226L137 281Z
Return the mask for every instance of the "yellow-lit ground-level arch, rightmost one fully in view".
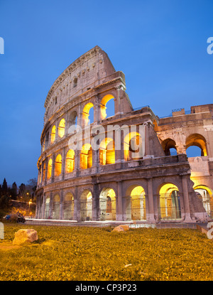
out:
M178 187L173 183L165 183L159 191L159 217L161 220L181 218L180 195Z

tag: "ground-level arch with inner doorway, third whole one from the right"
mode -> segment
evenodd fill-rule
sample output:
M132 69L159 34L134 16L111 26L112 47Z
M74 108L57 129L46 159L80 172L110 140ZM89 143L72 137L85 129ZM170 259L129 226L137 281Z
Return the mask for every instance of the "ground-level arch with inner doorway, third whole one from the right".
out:
M112 188L103 188L99 195L99 219L116 220L116 193Z

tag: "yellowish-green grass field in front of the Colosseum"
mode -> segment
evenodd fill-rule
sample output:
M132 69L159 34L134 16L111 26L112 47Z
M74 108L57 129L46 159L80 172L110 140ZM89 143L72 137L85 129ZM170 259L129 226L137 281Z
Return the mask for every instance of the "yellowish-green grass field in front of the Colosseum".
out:
M33 228L38 241L13 246ZM4 225L0 280L213 280L213 241L197 230Z

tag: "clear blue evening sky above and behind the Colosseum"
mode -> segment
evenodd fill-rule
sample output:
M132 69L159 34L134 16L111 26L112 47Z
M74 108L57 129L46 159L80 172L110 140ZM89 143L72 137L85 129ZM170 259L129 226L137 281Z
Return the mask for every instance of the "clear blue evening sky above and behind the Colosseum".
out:
M37 178L45 97L87 50L124 72L134 108L163 117L213 103L211 36L211 0L0 0L0 183Z

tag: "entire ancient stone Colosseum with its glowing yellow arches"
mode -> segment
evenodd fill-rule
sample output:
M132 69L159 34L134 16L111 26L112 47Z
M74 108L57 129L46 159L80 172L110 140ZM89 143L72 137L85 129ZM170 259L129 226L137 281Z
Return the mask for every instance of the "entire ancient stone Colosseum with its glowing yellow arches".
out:
M95 46L45 100L35 218L204 222L213 216L213 104L159 118L133 109L125 75ZM187 157L196 146L199 154Z

